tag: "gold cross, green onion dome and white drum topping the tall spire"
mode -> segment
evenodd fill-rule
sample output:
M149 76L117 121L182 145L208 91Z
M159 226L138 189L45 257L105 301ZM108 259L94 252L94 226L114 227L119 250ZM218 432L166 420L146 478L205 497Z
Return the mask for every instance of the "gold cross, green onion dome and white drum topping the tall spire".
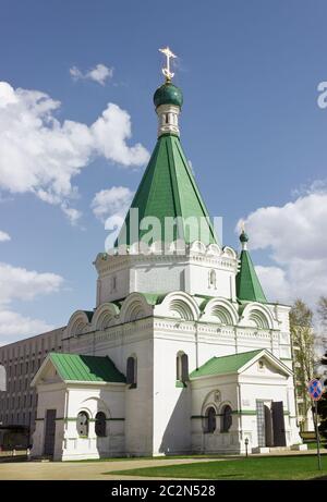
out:
M170 59L174 59L177 56L169 47L159 49L159 51L166 56L167 62L166 66L161 69L166 82L158 87L154 95L154 103L159 119L158 136L162 134L179 136L179 114L183 103L183 95L181 89L171 83L174 73L170 70Z

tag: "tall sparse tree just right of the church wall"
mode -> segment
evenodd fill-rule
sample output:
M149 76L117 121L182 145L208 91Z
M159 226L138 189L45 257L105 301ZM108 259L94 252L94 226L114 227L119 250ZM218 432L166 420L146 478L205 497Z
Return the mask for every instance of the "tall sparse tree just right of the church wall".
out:
M298 412L302 416L300 424L303 430L311 411L311 399L307 394L307 382L314 372L314 332L313 311L300 298L290 310L290 332L293 347L293 365L295 374Z

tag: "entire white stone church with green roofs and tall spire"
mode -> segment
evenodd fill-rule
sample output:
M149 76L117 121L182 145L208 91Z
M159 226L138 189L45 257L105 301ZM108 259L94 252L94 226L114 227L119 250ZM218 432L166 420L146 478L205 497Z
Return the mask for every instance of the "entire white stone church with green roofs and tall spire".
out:
M266 299L244 230L240 255L219 243L180 142L182 93L165 72L156 147L114 250L95 261L96 308L71 316L61 351L33 378L35 457L301 443L289 307ZM148 218L178 224L145 242ZM190 218L202 221L199 238Z

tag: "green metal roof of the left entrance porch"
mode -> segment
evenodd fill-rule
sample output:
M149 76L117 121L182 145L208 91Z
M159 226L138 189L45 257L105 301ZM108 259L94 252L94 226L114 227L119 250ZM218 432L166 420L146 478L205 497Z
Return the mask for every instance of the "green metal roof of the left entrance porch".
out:
M109 357L50 353L50 360L63 380L81 382L125 382Z

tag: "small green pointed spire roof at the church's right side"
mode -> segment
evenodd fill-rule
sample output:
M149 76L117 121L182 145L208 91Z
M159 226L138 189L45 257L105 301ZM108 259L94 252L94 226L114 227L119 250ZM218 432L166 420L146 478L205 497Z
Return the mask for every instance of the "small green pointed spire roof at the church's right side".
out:
M240 271L237 274L237 296L241 301L267 303L267 298L257 278L250 253L241 253Z

